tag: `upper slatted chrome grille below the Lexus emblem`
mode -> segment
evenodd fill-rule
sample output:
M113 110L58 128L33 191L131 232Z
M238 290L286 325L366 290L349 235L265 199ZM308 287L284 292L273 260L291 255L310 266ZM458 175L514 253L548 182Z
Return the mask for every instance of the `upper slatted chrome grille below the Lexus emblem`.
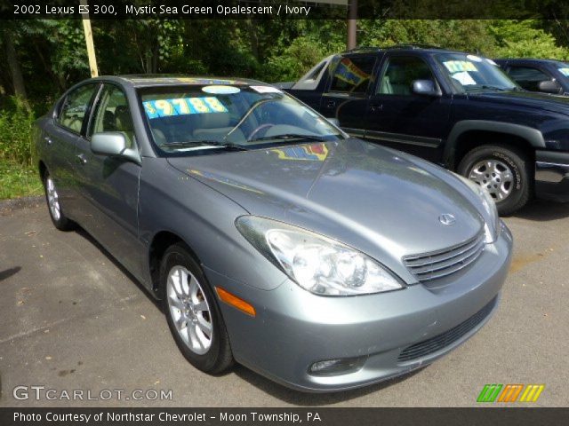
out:
M405 256L403 262L417 280L437 280L472 264L484 250L484 233L450 248Z

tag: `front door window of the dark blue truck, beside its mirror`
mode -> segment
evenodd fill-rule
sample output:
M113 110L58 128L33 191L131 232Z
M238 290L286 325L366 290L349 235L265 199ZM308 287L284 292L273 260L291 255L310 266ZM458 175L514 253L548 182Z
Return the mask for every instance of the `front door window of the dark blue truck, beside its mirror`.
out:
M414 56L396 56L388 59L388 65L381 76L377 93L382 95L412 95L413 81L431 80L435 77L429 65Z

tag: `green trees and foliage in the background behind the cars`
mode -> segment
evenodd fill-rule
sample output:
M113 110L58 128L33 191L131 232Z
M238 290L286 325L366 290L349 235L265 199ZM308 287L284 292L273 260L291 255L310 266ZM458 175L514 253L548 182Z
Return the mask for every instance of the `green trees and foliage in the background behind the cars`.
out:
M180 73L277 82L298 78L319 59L342 51L346 21L97 20L92 30L102 75ZM553 20L359 20L358 42L569 58L569 26ZM0 51L12 52L37 112L89 77L81 20L4 21ZM0 61L0 107L11 105L6 99L16 93L12 65Z

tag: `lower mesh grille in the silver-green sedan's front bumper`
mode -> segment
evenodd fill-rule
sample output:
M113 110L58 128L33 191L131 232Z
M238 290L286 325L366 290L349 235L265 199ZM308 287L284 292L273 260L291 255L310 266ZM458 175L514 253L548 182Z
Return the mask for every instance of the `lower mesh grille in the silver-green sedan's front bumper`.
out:
M426 357L427 355L441 351L450 344L460 340L462 336L468 334L470 330L477 327L478 324L480 324L488 315L490 315L490 312L492 312L494 306L496 305L496 302L497 297L494 297L489 304L486 304L484 308L472 315L469 319L461 322L461 324L458 326L445 331L443 334L431 337L430 339L425 340L421 343L415 343L411 346L406 347L399 354L397 362L408 362L413 361L414 359Z

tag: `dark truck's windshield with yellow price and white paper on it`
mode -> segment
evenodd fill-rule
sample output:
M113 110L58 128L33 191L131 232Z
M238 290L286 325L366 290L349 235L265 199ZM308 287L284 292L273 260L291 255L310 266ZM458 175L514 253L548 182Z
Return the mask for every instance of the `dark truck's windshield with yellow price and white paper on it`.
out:
M439 53L435 59L459 92L519 89L492 59L467 53Z

